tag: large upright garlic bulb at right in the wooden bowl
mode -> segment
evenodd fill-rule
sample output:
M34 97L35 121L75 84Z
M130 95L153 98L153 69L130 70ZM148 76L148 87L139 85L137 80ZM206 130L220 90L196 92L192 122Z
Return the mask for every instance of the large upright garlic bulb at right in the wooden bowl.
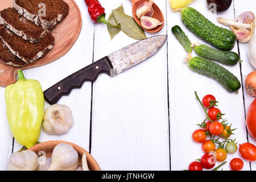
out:
M77 151L70 144L57 144L52 151L52 163L48 171L75 171L78 159Z

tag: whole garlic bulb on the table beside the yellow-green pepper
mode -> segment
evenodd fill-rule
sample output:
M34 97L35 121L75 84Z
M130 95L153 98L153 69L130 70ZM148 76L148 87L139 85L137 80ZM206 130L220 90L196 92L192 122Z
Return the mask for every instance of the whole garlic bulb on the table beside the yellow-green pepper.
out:
M54 104L44 113L43 129L48 134L65 134L73 126L71 109L65 105Z

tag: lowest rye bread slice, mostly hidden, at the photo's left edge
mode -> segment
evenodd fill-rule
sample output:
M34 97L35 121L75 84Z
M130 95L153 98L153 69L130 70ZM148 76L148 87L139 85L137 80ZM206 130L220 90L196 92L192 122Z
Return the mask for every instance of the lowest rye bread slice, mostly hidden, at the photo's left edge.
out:
M0 39L0 61L5 64L13 65L15 67L23 67L27 63L19 59L17 56L13 55L9 48L5 46Z

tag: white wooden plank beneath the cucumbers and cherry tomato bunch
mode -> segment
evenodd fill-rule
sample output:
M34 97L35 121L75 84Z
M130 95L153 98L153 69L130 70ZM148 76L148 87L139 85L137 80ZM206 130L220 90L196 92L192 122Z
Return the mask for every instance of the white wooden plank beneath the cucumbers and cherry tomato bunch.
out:
M169 4L168 4L169 5ZM234 16L233 5L229 10L218 15L210 13L206 1L195 1L192 7L199 10L213 23L216 22L217 16L224 16L232 19ZM168 9L168 8L167 8ZM203 151L201 144L197 144L192 140L192 133L199 129L197 123L201 123L205 114L199 102L195 98L194 91L197 91L200 98L206 94L213 94L220 102L219 108L225 113L225 118L232 122L232 126L237 130L237 142L246 142L246 129L244 125L243 115L243 95L242 89L239 94L228 93L218 82L192 72L187 64L184 63L186 52L177 42L171 33L172 26L178 24L191 39L192 43L204 43L195 35L193 35L181 22L180 13L174 13L167 10L168 17L168 68L169 68L169 90L170 90L170 144L171 144L171 169L181 170L187 169L189 163L193 160L201 158ZM221 26L218 24L218 26ZM206 43L204 43L206 44ZM233 51L237 52L237 46ZM195 53L193 52L195 56ZM226 67L230 72L234 73L241 80L240 66ZM238 157L239 154L228 155L226 159L229 163L232 158ZM220 163L218 163L220 164ZM224 170L229 170L229 164L226 164ZM245 162L244 170L249 170L249 163Z

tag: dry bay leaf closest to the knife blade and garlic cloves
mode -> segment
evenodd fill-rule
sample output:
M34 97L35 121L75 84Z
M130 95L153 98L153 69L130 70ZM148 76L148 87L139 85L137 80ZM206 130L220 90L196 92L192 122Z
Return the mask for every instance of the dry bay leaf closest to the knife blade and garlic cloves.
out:
M135 40L147 38L144 30L135 22L133 17L120 13L117 10L112 10L112 13L114 15L115 22L121 24L121 30L127 36Z

